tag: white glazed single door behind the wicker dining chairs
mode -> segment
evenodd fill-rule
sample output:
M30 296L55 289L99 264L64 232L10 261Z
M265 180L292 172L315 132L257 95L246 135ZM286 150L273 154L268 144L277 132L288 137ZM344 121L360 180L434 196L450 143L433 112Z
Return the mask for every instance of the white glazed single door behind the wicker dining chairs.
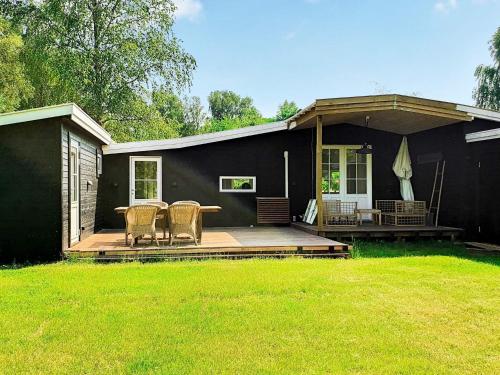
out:
M161 201L161 156L130 157L130 205Z

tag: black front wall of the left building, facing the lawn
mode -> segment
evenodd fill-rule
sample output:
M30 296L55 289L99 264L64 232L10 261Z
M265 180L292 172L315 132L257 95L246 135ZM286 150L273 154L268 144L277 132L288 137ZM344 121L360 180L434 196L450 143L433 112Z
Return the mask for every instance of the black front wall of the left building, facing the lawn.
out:
M59 119L0 126L0 260L61 251Z

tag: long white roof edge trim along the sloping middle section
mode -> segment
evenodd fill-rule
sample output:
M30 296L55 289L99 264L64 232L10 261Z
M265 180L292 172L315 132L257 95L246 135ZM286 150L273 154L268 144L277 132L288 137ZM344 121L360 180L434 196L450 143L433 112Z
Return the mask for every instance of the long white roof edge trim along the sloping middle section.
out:
M193 135L189 137L164 139L160 141L113 143L109 146L104 146L103 152L105 155L109 155L131 152L171 150L204 145L207 143L221 142L229 139L249 137L252 135L272 133L281 130L286 130L286 124L284 122L275 122L263 125L247 126L240 129L224 130L215 133Z

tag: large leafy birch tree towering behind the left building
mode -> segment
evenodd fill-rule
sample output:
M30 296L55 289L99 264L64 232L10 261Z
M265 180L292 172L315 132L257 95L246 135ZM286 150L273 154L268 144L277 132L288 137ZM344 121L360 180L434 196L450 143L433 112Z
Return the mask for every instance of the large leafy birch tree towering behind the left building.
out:
M31 78L37 71L48 77L49 90L35 84L37 105L64 97L107 126L121 112L133 117L130 109L138 108L137 97L146 97L148 87L179 90L191 84L196 63L173 34L173 0L3 3L2 10L25 30Z

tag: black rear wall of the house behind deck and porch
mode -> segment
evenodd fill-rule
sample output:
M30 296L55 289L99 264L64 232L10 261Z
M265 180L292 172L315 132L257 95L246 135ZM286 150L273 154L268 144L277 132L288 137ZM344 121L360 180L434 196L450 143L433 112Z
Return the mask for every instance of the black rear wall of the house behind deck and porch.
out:
M324 144L373 145L373 198L399 197L399 182L392 162L401 136L351 125L325 127ZM256 224L258 196L284 195L284 151L289 152L291 215L305 212L314 197L315 130L280 131L179 150L104 156L103 227L121 228L123 217L114 213L129 205L129 158L133 155L162 156L163 200L193 199L220 205L223 211L204 216L207 226ZM219 176L256 176L256 193L219 193Z

